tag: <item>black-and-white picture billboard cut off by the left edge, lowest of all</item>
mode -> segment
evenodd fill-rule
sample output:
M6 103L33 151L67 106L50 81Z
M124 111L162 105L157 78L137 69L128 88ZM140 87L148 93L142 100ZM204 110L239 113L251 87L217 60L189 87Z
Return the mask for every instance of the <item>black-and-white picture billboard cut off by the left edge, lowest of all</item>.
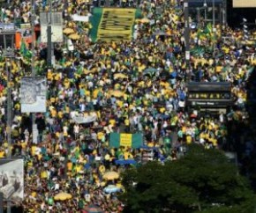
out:
M4 199L21 202L24 198L24 162L22 158L0 159L0 192Z

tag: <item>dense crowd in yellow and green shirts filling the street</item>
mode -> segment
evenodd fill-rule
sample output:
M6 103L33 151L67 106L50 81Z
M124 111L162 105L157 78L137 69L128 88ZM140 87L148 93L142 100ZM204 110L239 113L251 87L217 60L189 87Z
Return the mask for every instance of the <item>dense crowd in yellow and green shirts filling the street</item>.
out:
M133 6L133 2L124 5ZM65 42L57 44L53 68L47 68L45 44L36 43L35 70L47 78L48 87L47 112L35 115L37 143L32 141L31 116L21 114L19 102L19 80L30 75L31 61L20 54L10 64L11 147L6 135L5 62L0 64L0 158L11 151L12 156L25 159L25 212L78 212L89 204L98 205L103 212L121 212L117 194L103 190L109 184L120 186L120 179L104 180L104 173L121 173L127 166L147 160L175 160L187 143L220 148L227 141L227 122L247 119L245 82L255 64L255 47L241 44L242 30L216 26L214 34L212 29L206 32L204 23L192 29L194 52L187 64L180 1L139 1L143 18L149 21L136 22L136 39L131 41L92 42L91 26L72 21L72 14L87 15L91 6L89 1L54 2L54 8L64 11L64 28L72 27L81 36L68 41L73 48L66 48ZM157 13L156 7L162 12ZM30 9L30 1L13 1L11 7L2 8L2 21L19 18L29 22ZM35 1L35 24L40 23L39 11L47 10L47 1ZM230 43L222 40L227 36ZM219 117L187 111L185 82L190 80L230 82L234 108ZM72 119L76 114L96 120L79 124ZM253 133L253 129L248 131ZM144 146L111 148L111 132L142 133ZM133 159L136 164L116 165L117 159ZM72 199L55 201L59 192L71 194Z

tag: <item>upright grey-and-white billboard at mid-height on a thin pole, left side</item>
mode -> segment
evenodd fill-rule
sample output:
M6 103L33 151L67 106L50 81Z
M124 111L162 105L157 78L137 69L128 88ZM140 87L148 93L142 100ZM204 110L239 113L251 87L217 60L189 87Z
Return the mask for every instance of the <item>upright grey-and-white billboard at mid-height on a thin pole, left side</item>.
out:
M46 88L45 77L22 77L19 91L21 113L45 113Z

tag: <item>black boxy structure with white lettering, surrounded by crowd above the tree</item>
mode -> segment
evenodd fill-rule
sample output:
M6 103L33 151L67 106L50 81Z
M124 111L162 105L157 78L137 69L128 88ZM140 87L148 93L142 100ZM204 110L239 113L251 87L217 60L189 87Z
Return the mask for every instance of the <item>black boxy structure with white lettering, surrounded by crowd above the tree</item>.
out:
M186 92L189 108L226 113L234 103L229 82L190 82Z

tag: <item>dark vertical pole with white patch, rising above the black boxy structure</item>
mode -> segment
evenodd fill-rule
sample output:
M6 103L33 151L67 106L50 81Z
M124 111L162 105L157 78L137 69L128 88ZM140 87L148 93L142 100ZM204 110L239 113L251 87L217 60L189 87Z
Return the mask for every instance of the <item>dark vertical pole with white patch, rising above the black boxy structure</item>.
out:
M186 66L190 69L190 23L189 23L189 0L184 0L184 42L185 42L185 61ZM190 73L190 70L189 70ZM190 74L186 77L190 80Z

